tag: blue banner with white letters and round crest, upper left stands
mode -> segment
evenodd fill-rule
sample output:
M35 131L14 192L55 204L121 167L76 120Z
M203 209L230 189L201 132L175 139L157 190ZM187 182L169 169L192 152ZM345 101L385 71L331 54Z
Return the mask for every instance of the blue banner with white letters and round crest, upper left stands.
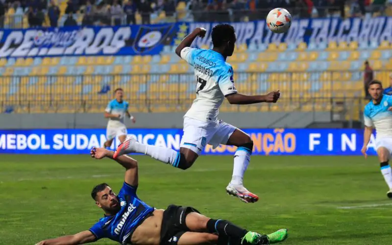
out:
M0 30L0 58L158 54L177 24Z

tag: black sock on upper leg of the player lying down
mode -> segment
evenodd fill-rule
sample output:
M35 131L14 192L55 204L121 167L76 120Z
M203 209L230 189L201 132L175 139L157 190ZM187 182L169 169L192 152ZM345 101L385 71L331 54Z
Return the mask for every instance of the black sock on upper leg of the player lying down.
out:
M207 230L210 233L218 233L219 236L228 236L233 239L242 239L248 232L229 221L213 219L207 221Z

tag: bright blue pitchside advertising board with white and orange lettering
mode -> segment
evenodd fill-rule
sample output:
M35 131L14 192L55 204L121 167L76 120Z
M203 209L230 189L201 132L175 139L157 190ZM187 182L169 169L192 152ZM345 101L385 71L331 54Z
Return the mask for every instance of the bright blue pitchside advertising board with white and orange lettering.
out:
M361 129L244 129L253 140L255 155L360 155ZM87 154L106 141L105 129L0 130L0 153ZM132 129L139 142L178 150L182 129ZM112 149L118 146L118 139ZM371 136L368 154L375 155ZM236 147L205 147L203 154L233 154Z

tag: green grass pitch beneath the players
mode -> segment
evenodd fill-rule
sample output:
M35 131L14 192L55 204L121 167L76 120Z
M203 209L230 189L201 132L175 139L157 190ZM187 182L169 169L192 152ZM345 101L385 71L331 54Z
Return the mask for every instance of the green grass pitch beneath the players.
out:
M118 192L123 183L120 165L88 154L0 158L1 245L32 245L90 228L103 215L92 187L107 182ZM187 171L135 158L139 197L156 208L191 205L259 232L289 228L287 245L392 244L392 201L375 157L252 156L245 186L259 195L255 204L225 193L232 156L200 156Z

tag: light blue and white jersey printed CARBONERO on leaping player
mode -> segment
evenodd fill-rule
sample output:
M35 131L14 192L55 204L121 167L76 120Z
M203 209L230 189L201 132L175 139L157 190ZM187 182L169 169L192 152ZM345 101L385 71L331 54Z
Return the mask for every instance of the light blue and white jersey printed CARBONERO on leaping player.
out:
M187 47L181 58L194 67L196 78L196 99L184 117L216 122L223 99L237 93L232 66L211 49Z

